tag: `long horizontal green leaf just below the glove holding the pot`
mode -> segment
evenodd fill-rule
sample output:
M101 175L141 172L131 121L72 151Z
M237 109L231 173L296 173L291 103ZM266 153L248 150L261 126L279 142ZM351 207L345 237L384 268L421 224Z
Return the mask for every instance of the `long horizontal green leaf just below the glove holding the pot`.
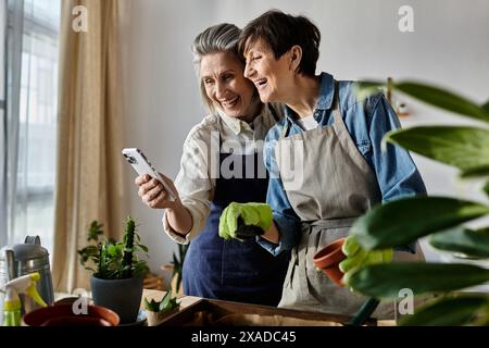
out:
M355 291L376 298L397 298L399 291L414 295L443 293L489 282L489 270L457 263L392 262L361 268L349 277Z

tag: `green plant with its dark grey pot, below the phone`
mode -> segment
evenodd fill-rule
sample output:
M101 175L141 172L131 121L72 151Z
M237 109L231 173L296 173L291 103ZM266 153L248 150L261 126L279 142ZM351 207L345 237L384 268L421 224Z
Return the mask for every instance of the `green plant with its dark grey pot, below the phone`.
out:
M128 216L125 223L123 241L99 240L102 236L102 225L92 222L89 240L96 240L78 250L83 265L90 260L95 269L90 279L93 302L115 311L121 318L121 324L134 323L137 320L142 296L143 274L147 262L140 260L138 253L148 252L148 248L140 244L136 233L136 222Z

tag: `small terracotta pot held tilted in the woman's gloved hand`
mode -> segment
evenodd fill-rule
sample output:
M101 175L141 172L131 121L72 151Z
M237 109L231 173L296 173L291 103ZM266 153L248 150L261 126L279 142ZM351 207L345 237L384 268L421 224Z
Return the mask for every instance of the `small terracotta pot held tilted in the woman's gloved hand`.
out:
M338 286L343 286L341 278L343 273L339 270L339 263L347 257L341 251L344 238L337 239L314 254L314 264L322 270Z

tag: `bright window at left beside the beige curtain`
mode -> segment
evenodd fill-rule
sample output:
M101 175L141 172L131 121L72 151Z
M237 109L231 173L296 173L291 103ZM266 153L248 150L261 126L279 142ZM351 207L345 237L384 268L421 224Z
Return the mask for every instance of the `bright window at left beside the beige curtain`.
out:
M60 0L8 1L5 239L16 244L38 235L50 253L60 12Z

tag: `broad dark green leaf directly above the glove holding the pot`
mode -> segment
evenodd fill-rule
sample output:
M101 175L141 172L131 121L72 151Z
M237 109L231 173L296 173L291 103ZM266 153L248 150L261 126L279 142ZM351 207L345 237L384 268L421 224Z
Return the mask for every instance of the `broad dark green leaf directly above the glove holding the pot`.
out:
M355 221L352 233L367 250L402 247L488 213L488 206L476 202L411 197L375 207Z

